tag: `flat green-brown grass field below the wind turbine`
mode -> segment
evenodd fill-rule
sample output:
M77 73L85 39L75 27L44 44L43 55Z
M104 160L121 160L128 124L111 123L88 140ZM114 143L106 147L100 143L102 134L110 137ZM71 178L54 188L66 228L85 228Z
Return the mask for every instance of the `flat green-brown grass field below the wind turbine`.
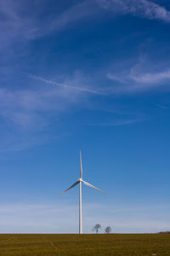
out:
M170 234L0 235L2 256L170 256Z

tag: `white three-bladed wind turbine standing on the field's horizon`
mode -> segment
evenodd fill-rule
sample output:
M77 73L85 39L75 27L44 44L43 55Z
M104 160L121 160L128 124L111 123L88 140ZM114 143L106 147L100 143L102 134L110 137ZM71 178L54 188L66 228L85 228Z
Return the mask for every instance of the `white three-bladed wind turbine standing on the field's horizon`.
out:
M65 194L65 192L67 192L69 189L72 189L73 187L75 187L78 183L79 183L79 234L82 234L82 183L84 183L85 185L87 185L88 187L91 187L93 189L97 189L102 193L102 190L94 187L93 185L91 185L90 183L85 182L82 179L82 155L81 155L81 151L80 151L80 178L77 178L77 182L72 184L70 188L66 189L61 195Z

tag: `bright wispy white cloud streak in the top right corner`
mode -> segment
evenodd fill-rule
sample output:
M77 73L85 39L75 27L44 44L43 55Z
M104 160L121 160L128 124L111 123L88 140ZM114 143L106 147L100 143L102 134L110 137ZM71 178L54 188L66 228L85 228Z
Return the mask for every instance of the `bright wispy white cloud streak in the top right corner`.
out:
M97 0L104 9L117 14L131 14L150 20L170 22L170 12L163 6L148 0Z

